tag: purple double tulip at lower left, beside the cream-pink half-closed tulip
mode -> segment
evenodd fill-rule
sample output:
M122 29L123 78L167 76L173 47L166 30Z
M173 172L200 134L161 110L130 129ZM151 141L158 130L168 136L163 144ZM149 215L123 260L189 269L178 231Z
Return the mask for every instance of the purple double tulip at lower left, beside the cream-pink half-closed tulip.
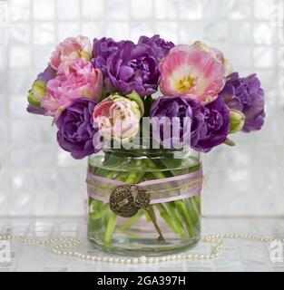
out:
M60 147L70 152L76 160L98 151L93 146L93 136L98 131L98 127L93 126L92 117L96 104L97 102L90 99L76 99L56 121Z

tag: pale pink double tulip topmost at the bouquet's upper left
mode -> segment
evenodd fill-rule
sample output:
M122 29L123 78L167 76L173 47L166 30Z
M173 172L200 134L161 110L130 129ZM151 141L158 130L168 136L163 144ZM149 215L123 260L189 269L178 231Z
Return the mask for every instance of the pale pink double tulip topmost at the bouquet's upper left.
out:
M63 66L68 66L78 58L86 61L92 58L92 45L88 37L68 37L59 43L51 56L50 65L54 70L61 72Z

